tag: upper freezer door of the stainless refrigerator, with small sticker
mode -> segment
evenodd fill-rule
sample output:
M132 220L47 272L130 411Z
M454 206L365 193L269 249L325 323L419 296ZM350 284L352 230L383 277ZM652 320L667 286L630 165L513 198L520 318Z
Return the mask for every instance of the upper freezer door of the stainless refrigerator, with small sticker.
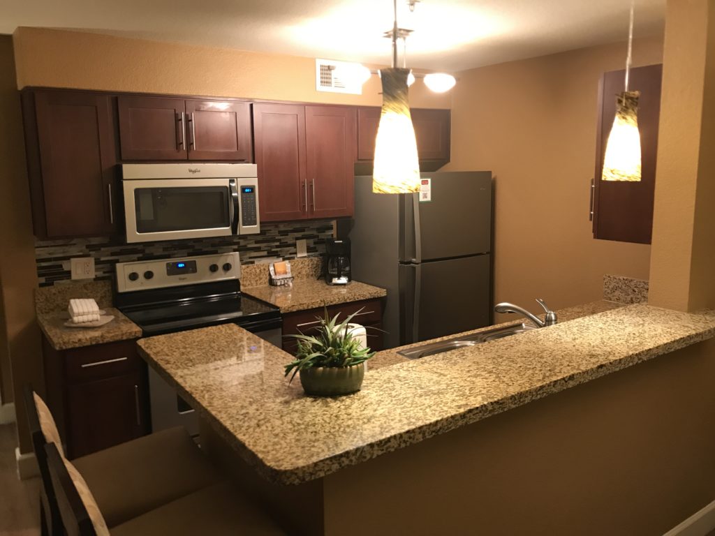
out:
M491 251L491 172L423 173L430 200L403 194L400 261L423 262Z

